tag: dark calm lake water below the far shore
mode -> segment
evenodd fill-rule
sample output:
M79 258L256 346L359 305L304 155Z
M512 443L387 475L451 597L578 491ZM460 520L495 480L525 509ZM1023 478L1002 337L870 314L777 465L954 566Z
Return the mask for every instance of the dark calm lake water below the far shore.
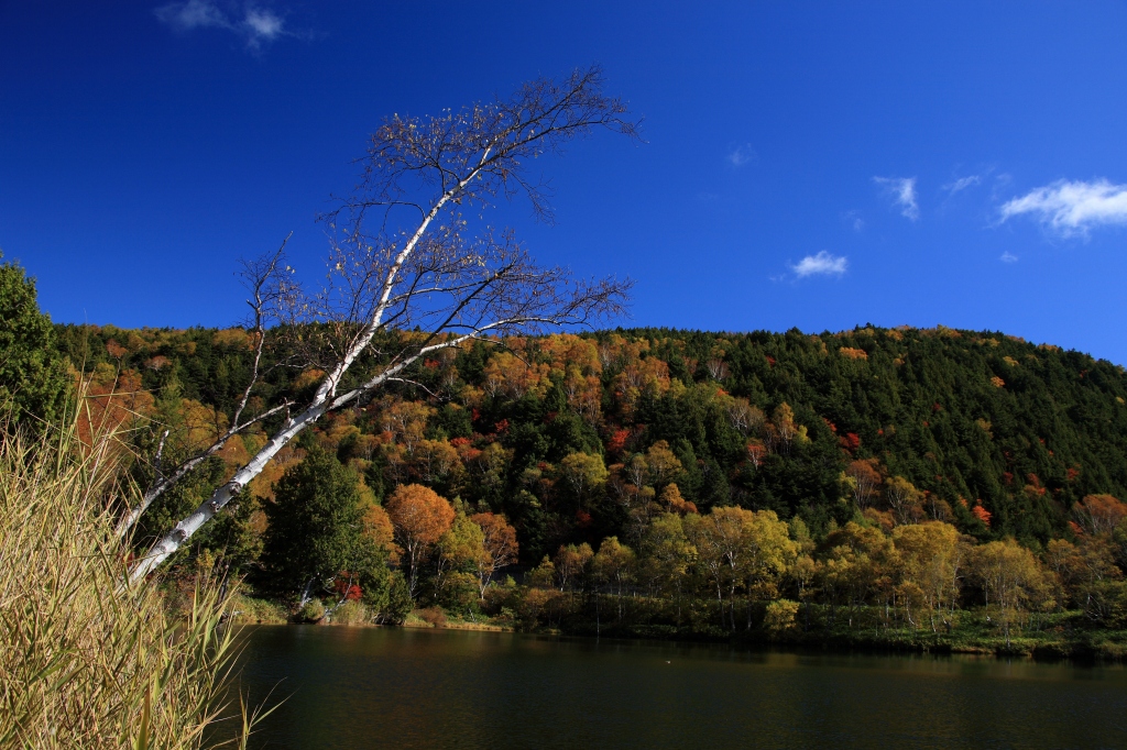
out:
M508 633L272 626L252 747L1127 748L1127 671Z

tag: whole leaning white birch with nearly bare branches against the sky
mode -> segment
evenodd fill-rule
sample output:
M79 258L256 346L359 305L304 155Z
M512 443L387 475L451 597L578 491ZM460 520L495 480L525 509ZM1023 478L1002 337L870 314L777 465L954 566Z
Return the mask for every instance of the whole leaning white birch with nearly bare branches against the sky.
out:
M248 266L257 291L256 363L267 325L290 331L294 356L321 373L316 390L304 402L274 407L286 417L266 445L136 560L131 581L184 546L302 430L389 384L410 382L412 365L427 355L622 312L629 282L541 267L512 231L483 222L482 212L497 199L520 194L550 221L547 186L530 175L529 162L597 128L637 137L624 104L603 93L597 68L534 80L508 98L436 117L388 118L360 160L355 189L325 217L330 251L323 286L302 288L281 251ZM468 214L478 220L471 223ZM375 364L354 367L361 360ZM232 425L242 422L251 420ZM178 473L187 471L172 476ZM148 502L171 486L170 479L161 477ZM131 514L125 526L135 520Z

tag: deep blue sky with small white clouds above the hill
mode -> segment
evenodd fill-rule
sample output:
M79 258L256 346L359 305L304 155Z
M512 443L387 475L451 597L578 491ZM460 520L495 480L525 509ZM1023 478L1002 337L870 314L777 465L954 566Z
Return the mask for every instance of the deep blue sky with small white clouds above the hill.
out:
M645 143L543 164L636 325L994 329L1127 364L1124 2L0 1L0 249L57 321L224 325L384 115L600 63Z

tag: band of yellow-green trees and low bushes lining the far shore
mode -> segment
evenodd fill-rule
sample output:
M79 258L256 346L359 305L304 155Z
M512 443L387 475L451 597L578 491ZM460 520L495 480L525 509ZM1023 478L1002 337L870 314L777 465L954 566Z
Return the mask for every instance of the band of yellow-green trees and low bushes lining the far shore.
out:
M454 512L451 528L460 523L472 521ZM390 574L402 589L398 604L357 586L326 600L240 598L236 608L258 623L1120 661L1122 527L1110 528L1053 543L1041 559L1012 539L975 543L941 521L890 532L851 521L816 543L800 521L772 511L671 512L653 520L637 550L615 537L597 551L565 545L524 570L522 583L506 575L485 586L472 573L481 550L463 545L460 557L447 530L417 562L414 596L410 571Z

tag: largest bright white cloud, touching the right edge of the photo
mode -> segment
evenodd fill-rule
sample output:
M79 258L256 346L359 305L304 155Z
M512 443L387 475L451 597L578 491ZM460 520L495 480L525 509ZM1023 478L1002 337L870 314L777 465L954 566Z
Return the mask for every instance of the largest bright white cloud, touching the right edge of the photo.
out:
M1127 224L1127 185L1057 180L1008 200L1001 214L1003 222L1030 214L1062 236L1088 236L1093 226Z

